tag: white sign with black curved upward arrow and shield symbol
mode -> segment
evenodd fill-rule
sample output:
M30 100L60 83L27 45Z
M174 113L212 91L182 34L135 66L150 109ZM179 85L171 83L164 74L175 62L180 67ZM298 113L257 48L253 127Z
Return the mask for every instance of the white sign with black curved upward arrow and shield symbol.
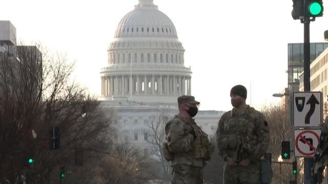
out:
M293 94L293 127L321 127L322 93L294 92Z

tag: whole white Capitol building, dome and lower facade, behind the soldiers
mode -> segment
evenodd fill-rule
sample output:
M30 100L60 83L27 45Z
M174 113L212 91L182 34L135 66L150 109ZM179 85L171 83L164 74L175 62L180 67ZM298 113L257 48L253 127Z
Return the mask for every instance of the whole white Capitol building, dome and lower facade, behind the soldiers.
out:
M153 0L139 0L119 22L108 48L108 66L101 68L101 98L114 110L117 139L129 139L148 154L148 124L178 113L177 98L192 95L191 67L171 19ZM195 97L197 100L197 97ZM196 122L214 134L222 111L199 111Z

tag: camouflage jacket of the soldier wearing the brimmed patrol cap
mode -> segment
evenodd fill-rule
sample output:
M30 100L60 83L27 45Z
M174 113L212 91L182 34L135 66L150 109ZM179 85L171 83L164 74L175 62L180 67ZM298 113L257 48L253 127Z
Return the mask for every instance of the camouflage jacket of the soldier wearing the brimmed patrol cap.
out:
M168 149L173 154L171 165L204 167L214 150L208 135L196 125L194 119L176 115L165 126Z

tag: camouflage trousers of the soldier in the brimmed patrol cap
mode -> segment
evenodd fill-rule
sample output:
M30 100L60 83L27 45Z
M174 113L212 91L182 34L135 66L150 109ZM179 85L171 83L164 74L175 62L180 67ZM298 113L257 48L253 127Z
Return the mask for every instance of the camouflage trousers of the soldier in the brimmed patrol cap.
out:
M182 164L172 167L170 184L203 184L203 168Z

